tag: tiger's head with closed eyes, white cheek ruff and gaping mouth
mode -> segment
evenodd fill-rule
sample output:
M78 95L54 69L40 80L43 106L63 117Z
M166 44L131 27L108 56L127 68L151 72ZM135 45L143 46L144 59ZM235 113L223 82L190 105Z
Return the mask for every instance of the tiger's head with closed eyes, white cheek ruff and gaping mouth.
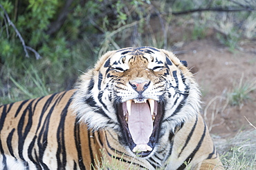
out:
M149 156L199 112L200 92L185 61L154 47L107 52L73 96L80 122L113 129L131 152Z

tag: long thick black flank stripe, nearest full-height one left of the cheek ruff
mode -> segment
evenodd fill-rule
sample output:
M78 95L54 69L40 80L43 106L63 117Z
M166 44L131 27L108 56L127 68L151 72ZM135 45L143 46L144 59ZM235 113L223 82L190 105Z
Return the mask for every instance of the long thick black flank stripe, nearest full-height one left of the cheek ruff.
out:
M58 147L57 147L56 158L57 158L58 169L62 169L66 167L66 148L65 148L64 129L65 129L66 114L68 112L68 107L71 104L71 101L72 99L70 98L68 100L68 103L66 103L66 106L62 110L62 114L60 115L60 124L57 128Z

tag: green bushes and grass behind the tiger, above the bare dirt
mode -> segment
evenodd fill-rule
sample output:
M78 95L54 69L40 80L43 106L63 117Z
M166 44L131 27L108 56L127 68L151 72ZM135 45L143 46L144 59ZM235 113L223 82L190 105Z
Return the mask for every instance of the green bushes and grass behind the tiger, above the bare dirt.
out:
M25 57L17 30L12 28L0 9L0 96L3 96L0 103L40 96L42 94L33 88L37 85L47 89L47 93L70 89L80 74L78 70L84 72L108 50L145 45L170 48L175 41L204 38L209 27L220 32L217 38L230 50L237 47L244 32L251 39L255 37L253 12L199 12L172 16L172 12L182 10L234 5L230 1L74 0L68 6L66 2L1 1L24 43L39 52L42 59L35 60L34 52L28 49L30 59ZM246 26L241 26L241 21ZM181 34L185 39L173 40L172 35L176 32L172 28L182 27L189 28ZM180 32L182 29L176 30ZM32 72L30 65L37 73L33 71L34 76L28 75L28 70ZM35 77L44 81L38 84ZM23 78L27 78L26 81ZM12 90L16 93L12 94ZM26 90L31 90L32 96Z

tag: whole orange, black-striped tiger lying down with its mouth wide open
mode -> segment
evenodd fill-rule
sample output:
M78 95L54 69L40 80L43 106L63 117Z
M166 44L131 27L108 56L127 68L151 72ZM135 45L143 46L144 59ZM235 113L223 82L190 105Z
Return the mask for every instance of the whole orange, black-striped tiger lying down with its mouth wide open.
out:
M0 169L224 169L200 109L172 52L109 51L74 89L1 105Z

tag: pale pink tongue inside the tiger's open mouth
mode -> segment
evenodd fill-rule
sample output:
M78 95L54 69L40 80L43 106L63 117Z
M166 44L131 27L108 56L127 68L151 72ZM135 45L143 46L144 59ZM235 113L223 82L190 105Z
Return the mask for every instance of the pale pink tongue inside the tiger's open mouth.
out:
M128 127L136 145L147 144L153 131L153 121L147 103L131 103Z

